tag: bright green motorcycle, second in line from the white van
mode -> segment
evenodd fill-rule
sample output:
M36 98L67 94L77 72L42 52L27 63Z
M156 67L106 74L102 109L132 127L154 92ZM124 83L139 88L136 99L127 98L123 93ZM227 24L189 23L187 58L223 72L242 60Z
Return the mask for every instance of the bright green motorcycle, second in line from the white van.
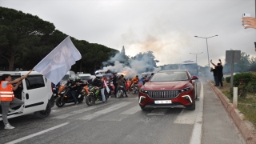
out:
M108 92L104 90L105 98L109 98ZM91 86L90 94L86 96L86 104L88 106L93 106L95 102L102 101L101 90L97 86Z

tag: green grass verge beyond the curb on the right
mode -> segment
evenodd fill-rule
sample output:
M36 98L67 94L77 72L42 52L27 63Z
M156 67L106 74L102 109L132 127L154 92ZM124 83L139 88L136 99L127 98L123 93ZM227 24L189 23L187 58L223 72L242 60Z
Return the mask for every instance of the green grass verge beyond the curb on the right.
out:
M224 88L219 90L233 103L233 97L230 94L230 84L223 82L223 86ZM248 93L246 98L238 96L238 110L244 115L244 119L251 122L256 129L256 95Z

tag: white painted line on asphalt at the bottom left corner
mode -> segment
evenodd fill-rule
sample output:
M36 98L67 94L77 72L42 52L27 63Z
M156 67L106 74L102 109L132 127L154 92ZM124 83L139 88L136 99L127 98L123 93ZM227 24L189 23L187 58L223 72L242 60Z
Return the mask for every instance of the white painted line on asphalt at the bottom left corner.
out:
M40 131L38 133L35 133L35 134L30 134L30 135L28 135L26 137L23 137L23 138L18 138L18 139L14 140L14 141L7 142L6 144L14 144L14 143L22 142L22 141L24 141L26 139L33 138L33 137L38 136L40 134L44 134L44 133L46 133L46 132L48 132L50 130L58 129L59 127L65 126L67 124L69 124L69 122L62 123L61 125L54 126L54 127L50 128L50 129L47 129L47 130L42 130L42 131Z

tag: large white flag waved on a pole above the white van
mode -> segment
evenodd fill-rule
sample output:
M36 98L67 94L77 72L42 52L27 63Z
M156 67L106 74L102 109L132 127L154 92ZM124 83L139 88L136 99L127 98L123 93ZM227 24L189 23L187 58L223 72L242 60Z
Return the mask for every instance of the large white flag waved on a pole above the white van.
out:
M37 66L34 66L33 70L38 71L51 82L57 84L71 69L71 66L81 58L80 52L68 36L50 54L46 55Z

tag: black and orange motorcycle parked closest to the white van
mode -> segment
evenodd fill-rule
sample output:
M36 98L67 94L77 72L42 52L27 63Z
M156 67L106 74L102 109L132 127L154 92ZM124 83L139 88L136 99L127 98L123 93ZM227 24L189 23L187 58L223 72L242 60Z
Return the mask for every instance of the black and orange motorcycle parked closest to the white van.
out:
M56 98L55 104L58 107L64 106L66 103L74 102L74 98L71 94L70 86L72 85L72 81L62 82L61 86L59 86L58 90L58 98ZM82 89L75 90L75 97L77 98L78 103L81 103L86 95L86 90L83 89L86 83L82 83Z

